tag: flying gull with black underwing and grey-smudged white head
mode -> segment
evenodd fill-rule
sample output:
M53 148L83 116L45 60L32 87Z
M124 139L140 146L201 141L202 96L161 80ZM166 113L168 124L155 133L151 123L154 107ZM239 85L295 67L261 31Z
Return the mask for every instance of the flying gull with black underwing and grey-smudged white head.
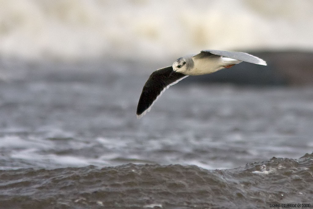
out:
M154 71L145 85L137 106L137 118L141 118L151 110L152 105L170 86L187 76L198 76L230 68L240 62L266 65L256 56L244 52L203 50L197 55L178 58L172 66Z

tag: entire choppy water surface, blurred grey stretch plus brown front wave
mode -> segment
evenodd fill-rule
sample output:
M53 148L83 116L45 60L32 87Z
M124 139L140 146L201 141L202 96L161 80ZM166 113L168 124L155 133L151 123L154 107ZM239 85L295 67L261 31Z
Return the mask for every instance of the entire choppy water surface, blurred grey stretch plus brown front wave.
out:
M0 208L312 204L312 87L186 78L138 120L146 75L67 69L0 83Z

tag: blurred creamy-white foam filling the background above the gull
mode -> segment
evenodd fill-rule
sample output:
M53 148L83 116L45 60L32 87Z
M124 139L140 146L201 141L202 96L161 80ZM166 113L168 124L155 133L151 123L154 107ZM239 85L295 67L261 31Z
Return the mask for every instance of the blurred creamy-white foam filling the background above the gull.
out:
M0 55L175 60L206 48L312 50L313 28L305 27L312 7L313 1L3 1Z

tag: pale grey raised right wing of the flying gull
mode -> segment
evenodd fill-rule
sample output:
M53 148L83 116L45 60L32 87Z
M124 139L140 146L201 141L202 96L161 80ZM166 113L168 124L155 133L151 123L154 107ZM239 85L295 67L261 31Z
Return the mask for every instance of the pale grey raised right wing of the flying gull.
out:
M228 57L228 58L232 58L232 59L240 60L244 62L250 62L250 63L257 64L257 65L267 65L266 62L260 59L259 57L249 55L244 52L235 52L235 51L203 50L201 51L201 53L199 53L198 55L194 55L193 57L201 58L203 57L203 55L209 55L209 54Z

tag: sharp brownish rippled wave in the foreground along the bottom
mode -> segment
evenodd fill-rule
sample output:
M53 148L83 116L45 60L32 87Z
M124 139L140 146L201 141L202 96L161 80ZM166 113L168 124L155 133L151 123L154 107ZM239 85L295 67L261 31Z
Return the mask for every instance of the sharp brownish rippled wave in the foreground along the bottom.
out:
M126 164L1 170L2 208L269 208L312 206L313 155L231 170Z

